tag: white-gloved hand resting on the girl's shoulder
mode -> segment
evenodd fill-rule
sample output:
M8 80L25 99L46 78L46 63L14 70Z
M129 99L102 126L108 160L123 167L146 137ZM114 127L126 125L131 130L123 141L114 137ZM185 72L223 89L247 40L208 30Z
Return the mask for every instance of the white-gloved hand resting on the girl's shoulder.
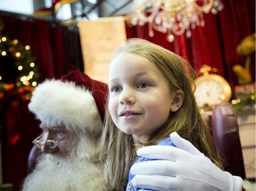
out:
M133 186L152 190L241 191L242 178L222 171L192 143L171 133L176 147L153 145L141 147L137 154L152 160L139 162L131 168L136 175Z

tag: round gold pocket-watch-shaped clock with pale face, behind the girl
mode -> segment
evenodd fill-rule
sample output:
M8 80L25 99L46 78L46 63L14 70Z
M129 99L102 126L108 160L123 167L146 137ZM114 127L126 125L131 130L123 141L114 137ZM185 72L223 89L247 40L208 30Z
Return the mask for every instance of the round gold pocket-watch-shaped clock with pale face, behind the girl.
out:
M209 73L216 70L208 65L203 65L199 70L203 75L195 80L195 98L201 108L212 109L214 105L228 102L231 99L229 83L221 75Z

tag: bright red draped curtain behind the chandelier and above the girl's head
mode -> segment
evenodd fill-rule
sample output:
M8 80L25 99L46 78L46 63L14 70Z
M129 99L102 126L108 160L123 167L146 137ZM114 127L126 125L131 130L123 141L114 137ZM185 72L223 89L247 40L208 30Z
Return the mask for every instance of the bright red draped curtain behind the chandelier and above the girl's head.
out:
M185 35L175 36L170 43L166 34L154 31L148 35L147 25L126 27L128 38L139 37L152 41L176 52L198 70L202 65L216 67L218 74L225 77L231 88L238 85L233 65L244 67L245 56L236 53L240 41L255 33L255 0L222 0L224 9L218 14L204 14L205 27L196 27L188 39ZM255 79L255 54L251 56L251 73Z

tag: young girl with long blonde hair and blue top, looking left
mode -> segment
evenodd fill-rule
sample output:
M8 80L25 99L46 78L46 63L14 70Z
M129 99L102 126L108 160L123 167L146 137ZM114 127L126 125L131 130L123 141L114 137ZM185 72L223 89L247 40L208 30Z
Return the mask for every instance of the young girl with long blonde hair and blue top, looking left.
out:
M139 147L172 145L169 135L174 131L222 167L188 73L193 70L186 60L143 39L130 39L117 50L109 69L108 111L100 143L109 190L125 190ZM129 189L137 188L129 183Z

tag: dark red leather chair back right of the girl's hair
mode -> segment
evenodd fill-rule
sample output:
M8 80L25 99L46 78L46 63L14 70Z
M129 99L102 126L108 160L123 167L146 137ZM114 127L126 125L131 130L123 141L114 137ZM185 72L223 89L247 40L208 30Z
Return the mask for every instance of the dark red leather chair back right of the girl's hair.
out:
M221 103L214 107L212 133L220 154L225 160L225 171L245 178L238 120L231 103Z

